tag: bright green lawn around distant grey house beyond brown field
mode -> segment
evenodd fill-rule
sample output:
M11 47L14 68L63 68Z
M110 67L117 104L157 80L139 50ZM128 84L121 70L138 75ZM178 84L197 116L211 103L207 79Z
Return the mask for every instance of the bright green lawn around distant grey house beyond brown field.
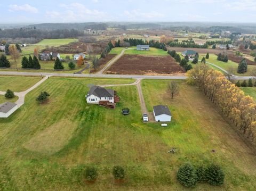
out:
M136 48L135 46L129 48ZM124 47L113 48L109 54L120 54ZM152 56L167 56L167 51L163 49L150 47L149 51L137 51L137 49L126 49L124 54L152 55Z

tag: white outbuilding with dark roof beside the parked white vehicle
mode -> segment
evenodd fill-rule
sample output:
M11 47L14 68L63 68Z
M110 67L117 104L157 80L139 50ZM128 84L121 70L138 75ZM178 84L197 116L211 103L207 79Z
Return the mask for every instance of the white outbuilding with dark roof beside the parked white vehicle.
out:
M172 114L167 106L157 105L154 106L154 116L155 120L158 122L171 121Z

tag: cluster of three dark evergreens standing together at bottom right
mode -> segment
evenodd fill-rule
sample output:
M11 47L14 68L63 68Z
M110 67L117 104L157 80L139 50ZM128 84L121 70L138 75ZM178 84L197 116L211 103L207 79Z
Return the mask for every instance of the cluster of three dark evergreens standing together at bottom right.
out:
M217 164L210 164L208 167L199 166L195 168L190 163L183 164L177 173L178 181L186 187L195 187L197 182L208 182L213 186L220 186L224 183L225 174Z

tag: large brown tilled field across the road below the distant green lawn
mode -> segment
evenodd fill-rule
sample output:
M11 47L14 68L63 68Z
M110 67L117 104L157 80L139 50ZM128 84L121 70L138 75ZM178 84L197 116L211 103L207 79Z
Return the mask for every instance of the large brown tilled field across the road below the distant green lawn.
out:
M181 74L183 68L171 56L125 54L106 73L112 74Z

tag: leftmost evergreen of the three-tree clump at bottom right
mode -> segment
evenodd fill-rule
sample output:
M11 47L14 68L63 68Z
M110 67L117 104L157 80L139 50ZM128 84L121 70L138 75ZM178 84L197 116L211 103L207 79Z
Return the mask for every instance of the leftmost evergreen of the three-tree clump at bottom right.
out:
M194 166L189 163L182 165L177 173L177 179L183 186L194 187L197 182Z

